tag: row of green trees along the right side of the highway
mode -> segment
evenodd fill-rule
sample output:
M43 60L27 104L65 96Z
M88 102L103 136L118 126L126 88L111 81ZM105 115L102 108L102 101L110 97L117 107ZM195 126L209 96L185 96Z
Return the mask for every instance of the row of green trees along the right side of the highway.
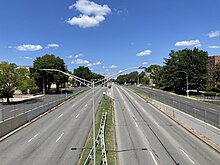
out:
M208 52L194 49L171 50L169 57L164 59L164 65L151 65L145 68L145 76L139 74L140 83L147 80L146 73L149 73L153 86L168 91L186 92L187 80L188 89L206 90L208 78ZM220 87L220 63L214 68L213 77L216 86ZM116 80L119 84L138 83L138 73L119 76ZM149 80L144 81L149 84Z

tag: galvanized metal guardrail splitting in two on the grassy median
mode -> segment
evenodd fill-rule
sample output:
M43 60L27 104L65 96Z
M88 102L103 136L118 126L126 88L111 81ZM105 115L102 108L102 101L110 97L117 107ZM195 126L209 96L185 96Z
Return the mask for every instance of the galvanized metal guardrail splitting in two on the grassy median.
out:
M102 118L101 118L101 123L100 123L100 126L99 126L99 132L98 132L98 135L96 137L96 143L95 144L97 146L99 144L99 140L101 141L102 164L108 165L106 148L105 148L105 125L106 125L106 118L107 118L106 116L107 116L107 112L103 112ZM87 156L84 165L88 165L89 162L93 159L93 150L94 150L94 146L90 150L89 155Z

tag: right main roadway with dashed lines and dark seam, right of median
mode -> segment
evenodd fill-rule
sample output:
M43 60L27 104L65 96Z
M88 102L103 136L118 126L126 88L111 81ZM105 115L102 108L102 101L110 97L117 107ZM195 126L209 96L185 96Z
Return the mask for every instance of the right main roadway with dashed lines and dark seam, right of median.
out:
M118 164L219 165L219 153L133 92L112 88Z

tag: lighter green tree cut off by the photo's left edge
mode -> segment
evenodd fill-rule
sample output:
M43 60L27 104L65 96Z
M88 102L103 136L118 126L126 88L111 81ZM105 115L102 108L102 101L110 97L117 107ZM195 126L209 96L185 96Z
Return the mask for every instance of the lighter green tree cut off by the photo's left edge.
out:
M9 98L13 96L14 90L18 84L18 73L16 64L1 62L0 63L0 98Z

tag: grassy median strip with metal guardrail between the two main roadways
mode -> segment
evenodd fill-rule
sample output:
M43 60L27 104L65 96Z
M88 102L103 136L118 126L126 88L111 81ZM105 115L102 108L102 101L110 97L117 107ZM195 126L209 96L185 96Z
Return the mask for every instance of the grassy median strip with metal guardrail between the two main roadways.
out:
M106 150L114 151L116 148L116 142L115 142L115 124L114 124L114 110L113 110L113 103L112 99L104 96L102 98L101 104L99 106L99 110L96 114L96 136L99 131L99 125L102 118L102 113L107 112L107 120L106 120L106 127L105 127L105 145ZM89 136L87 138L85 149L82 151L80 160L78 162L79 165L83 165L90 149L93 146L93 139L92 139L92 129L90 130ZM107 160L109 165L115 165L116 164L116 153L115 152L108 152L107 151ZM96 164L101 164L102 162L102 152L101 152L101 146L100 141L96 148ZM93 161L90 161L89 164L93 164Z

